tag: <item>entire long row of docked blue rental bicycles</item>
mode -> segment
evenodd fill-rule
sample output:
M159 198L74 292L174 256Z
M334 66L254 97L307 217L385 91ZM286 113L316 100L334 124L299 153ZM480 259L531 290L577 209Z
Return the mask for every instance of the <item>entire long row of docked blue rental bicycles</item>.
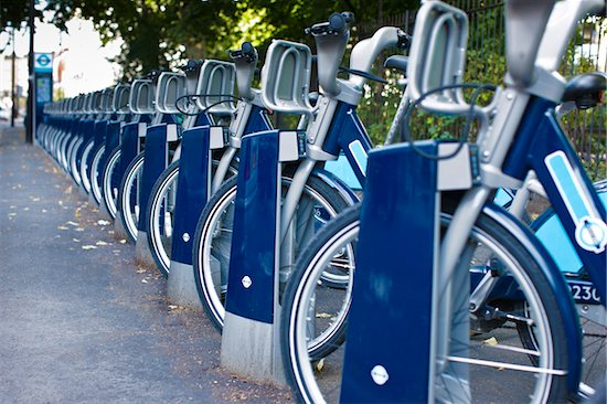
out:
M316 65L275 40L254 88L245 42L49 104L36 139L170 300L202 304L243 376L306 403L600 402L607 182L590 182L558 115L599 105L607 76L557 70L604 6L508 1L500 85L462 82L455 7L425 1L412 36L381 28L348 67L353 15L334 13L306 30ZM373 148L356 107L390 50L407 85L387 138L407 141ZM464 117L462 132L412 141L420 109ZM277 113L294 127L274 128ZM533 221L532 195L552 205Z

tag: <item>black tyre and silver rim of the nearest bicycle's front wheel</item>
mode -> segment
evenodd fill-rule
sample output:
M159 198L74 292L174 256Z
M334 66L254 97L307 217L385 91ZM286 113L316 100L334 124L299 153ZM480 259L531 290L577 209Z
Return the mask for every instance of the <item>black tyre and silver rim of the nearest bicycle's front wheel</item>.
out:
M331 263L336 252L339 252L347 245L355 245L358 241L359 217L360 205L355 205L344 211L340 217L322 228L315 241L301 253L296 264L296 270L285 289L283 312L280 317L280 342L285 371L294 392L298 398L305 403L339 401L339 389L341 386L340 361L343 359L343 337L348 323L347 310L350 308L350 301L338 301L338 304L332 304L331 299L334 300L334 295L327 295L329 296L327 305L319 302L319 297L323 296L322 294L327 294L326 290L321 289L326 286L319 283L319 279L324 265ZM450 213L443 213L441 220L443 224L448 222L450 220ZM479 248L479 253L486 253L482 248L489 248L491 256L499 257L504 263L509 264L507 269L503 270L508 270L508 275L513 276L513 279L519 283L518 286L526 294L525 297L533 305L533 312L535 313L533 320L536 321L536 327L543 331L541 333L543 341L542 351L540 352L542 354L541 364L545 365L547 369L566 369L568 351L564 343L560 343L565 341L565 329L563 325L564 321L557 309L557 297L547 286L549 283L537 263L533 259L532 254L526 252L524 246L514 238L511 233L486 214L481 214L477 220L470 235L468 248L475 248L475 252ZM355 256L352 257L352 259L354 258ZM465 265L464 270L471 273L469 263L464 263L462 265ZM352 272L353 276L354 274L355 270ZM336 291L336 289L331 289L330 293L336 294L340 293L340 290ZM439 294L439 296L441 295ZM347 296L344 296L344 298L347 298ZM327 307L331 305L338 307L342 312L334 313L327 311ZM310 349L309 341L315 341L317 337L316 333L310 334L310 329L312 329L312 327L309 323L309 319L317 320L317 309L324 310L323 312L327 313L328 317L331 319L334 318L336 321L339 320L341 322L337 326L332 323L327 325L327 329L329 329L329 327L337 328L337 330L332 332L333 336L326 336L328 338L326 338L324 342L332 345L316 347L317 351L315 353L313 350ZM464 321L470 321L471 316L468 309L466 309L466 311L467 312L462 313L464 316L461 319ZM457 319L458 316L456 315L454 318ZM517 331L511 328L502 327L504 323L493 325L494 329L492 332L494 334L484 333L482 334L482 340L490 341L491 338L501 340L502 337L505 340L507 337L512 338L512 334L514 334L514 340L518 341ZM316 332L317 329L313 331ZM322 333L319 333L319 336L322 336ZM482 345L486 350L489 349L491 353L493 353L492 351L500 351L498 349L491 350L490 348L484 348L482 341L470 338L468 338L467 341L452 341L452 345L457 345L457 343L461 343L464 348L469 349L476 355L487 352L479 350L477 345ZM318 363L319 353L321 352L327 353L327 355L322 358L324 370L318 371L318 368L316 368L313 363ZM524 350L523 353L517 351L508 352L509 354L514 352L512 354L517 355L517 360L523 360L524 358L525 361L529 361ZM519 358L520 355L523 358ZM477 364L478 368L476 368L473 364L470 364L470 366L472 366L470 375L475 378L475 381L470 381L469 383L469 393L471 396L466 397L468 402L487 402L488 400L499 401L499 396L497 398L484 396L476 401L475 398L478 398L476 395L482 394L483 391L491 392L496 390L499 391L500 389L503 389L502 392L504 394L501 400L520 401L521 398L513 398L515 393L520 393L521 396L526 400L529 392L524 391L525 384L517 383L517 381L513 382L512 380L504 383L500 379L498 381L492 379L496 376L503 378L503 374L512 373L512 371L501 371L500 375L499 369L482 368L479 372L478 368L480 368L480 365ZM517 373L520 379L526 376L526 373ZM441 381L443 374L438 374L436 380ZM535 393L534 398L539 402L566 401L566 379L564 375L557 376L540 373L540 375L535 378L535 374L532 374L529 379L525 379L524 382L531 384L532 393ZM536 382L536 384L533 384L533 382ZM451 393L450 390L445 389L447 384L448 383L444 383L440 385L437 383L437 385L434 386L437 400L458 402L461 396L452 398L449 394L443 394ZM512 385L517 385L517 392L512 391Z

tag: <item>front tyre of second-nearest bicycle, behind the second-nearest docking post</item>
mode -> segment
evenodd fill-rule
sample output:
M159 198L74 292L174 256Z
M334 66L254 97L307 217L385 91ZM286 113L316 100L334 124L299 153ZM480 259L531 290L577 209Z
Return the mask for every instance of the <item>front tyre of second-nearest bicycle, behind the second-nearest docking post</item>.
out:
M217 192L211 198L206 206L201 213L199 219L194 244L192 246L192 263L194 266L194 279L199 297L202 306L204 307L209 318L221 332L223 330L223 319L225 316L225 309L222 295L227 289L227 268L230 264L230 245L232 242L231 230L225 230L222 233L227 233L228 236L213 234L216 231L217 224L225 219L225 226L232 225L233 210L232 204L236 196L236 181L237 178L233 178L225 182ZM290 182L289 177L283 177L283 189L285 190ZM341 212L349 205L339 192L322 182L321 180L310 177L306 183L303 195L307 198L317 198L317 201L323 206L323 209L330 209L329 212L332 216ZM300 202L301 203L301 202ZM316 205L312 210L317 210ZM318 219L315 212L315 217ZM296 219L294 219L296 220ZM323 219L318 219L319 222ZM313 222L316 225L316 222ZM322 223L323 224L323 223ZM303 228L308 228L310 221L296 222L297 234L302 234ZM213 235L215 235L213 237ZM296 246L295 256L302 248L302 244ZM212 254L211 248L215 252ZM219 257L219 258L217 258ZM211 259L214 259L221 264L220 272L213 269ZM217 275L220 276L217 278Z

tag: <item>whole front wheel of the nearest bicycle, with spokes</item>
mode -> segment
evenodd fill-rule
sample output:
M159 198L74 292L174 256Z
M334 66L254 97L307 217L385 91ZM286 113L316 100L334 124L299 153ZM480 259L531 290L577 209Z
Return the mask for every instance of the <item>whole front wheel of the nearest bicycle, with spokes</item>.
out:
M355 276L359 216L360 206L354 206L319 232L300 255L284 294L280 338L285 369L296 394L306 403L340 398L351 286L329 288L321 277L336 265L348 266L351 279ZM443 213L443 226L450 217ZM564 320L539 264L511 233L484 214L475 224L462 257L458 270L467 274L470 285L478 285L483 276L499 276L498 281L509 283L518 293L514 297L489 294L479 307L466 304L464 311L452 313L449 352L440 361L435 359L436 398L451 403L565 401L568 353L563 343ZM469 296L466 288L461 298L468 301ZM525 310L521 310L521 301ZM521 344L520 322L533 328L535 349ZM466 332L454 332L461 326ZM536 358L536 363L530 357Z

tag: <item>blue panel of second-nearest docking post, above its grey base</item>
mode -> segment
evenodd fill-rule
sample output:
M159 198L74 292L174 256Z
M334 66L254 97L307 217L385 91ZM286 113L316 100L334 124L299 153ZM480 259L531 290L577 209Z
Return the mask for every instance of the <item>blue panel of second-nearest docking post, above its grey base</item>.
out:
M278 130L244 136L225 309L267 323L274 322L279 177Z

